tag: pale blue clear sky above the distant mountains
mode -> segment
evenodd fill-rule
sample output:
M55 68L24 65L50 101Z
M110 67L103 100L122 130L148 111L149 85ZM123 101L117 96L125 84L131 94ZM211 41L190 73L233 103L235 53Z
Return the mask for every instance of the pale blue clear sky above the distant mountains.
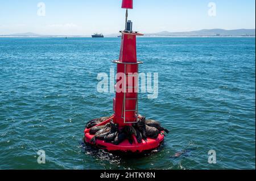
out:
M133 1L129 19L133 30L143 33L255 28L255 0ZM0 35L118 33L125 27L121 4L122 0L0 0Z

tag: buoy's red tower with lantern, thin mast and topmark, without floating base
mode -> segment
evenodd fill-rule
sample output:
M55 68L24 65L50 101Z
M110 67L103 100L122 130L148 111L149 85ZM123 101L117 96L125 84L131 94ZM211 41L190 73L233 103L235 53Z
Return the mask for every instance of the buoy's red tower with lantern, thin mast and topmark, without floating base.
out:
M113 110L115 123L124 127L138 121L138 71L136 36L141 33L132 30L133 23L127 20L128 9L133 9L133 0L123 0L122 8L126 9L125 30L121 31L122 41L119 60L113 61L117 64L117 84L115 85L115 98L113 99ZM121 90L121 91L117 91Z

